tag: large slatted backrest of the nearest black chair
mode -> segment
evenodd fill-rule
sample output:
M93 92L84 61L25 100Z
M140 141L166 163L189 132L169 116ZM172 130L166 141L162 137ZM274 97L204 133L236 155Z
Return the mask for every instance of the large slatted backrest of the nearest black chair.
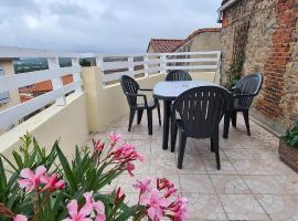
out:
M182 93L173 104L189 137L211 137L231 108L232 95L221 86L200 86Z

